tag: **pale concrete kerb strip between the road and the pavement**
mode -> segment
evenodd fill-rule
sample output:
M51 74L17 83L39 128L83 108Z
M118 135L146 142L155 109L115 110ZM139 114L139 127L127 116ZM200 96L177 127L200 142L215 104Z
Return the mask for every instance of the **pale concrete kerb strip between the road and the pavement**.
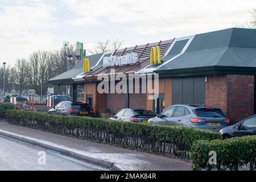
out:
M24 135L11 133L9 131L4 131L4 130L0 130L0 135L9 137L9 138L13 138L16 140L20 140L22 142L34 144L36 146L40 146L43 148L48 148L50 150L54 150L54 151L60 152L65 155L72 156L73 158L85 160L85 161L92 162L94 164L98 164L98 165L101 165L104 167L112 168L116 171L126 171L127 170L127 169L123 168L122 166L120 166L119 164L112 163L112 162L109 162L108 160L104 160L104 159L94 158L92 156L85 155L82 152L73 150L72 148L58 146L55 143L51 143L51 142L47 142L44 140L39 140L39 139L31 138L31 137L26 137Z

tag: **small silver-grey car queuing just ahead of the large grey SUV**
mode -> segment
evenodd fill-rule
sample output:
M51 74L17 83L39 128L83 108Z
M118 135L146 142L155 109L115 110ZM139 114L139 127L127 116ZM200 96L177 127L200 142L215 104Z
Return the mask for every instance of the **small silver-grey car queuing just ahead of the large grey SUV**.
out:
M117 114L113 115L113 120L126 121L135 123L147 123L148 119L156 117L156 114L151 110L145 109L122 109Z

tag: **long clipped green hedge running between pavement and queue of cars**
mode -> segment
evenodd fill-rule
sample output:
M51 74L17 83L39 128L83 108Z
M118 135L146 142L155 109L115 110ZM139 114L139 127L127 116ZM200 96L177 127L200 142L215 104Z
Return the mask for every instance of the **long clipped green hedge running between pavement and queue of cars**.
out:
M8 117L14 125L185 158L189 158L189 151L196 140L221 139L218 133L195 127L148 125L19 110L8 111Z

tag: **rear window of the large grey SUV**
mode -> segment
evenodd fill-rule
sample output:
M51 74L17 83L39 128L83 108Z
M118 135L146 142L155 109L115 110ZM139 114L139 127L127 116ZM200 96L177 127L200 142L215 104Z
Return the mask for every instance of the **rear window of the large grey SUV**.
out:
M217 108L200 108L193 110L193 112L198 117L225 118L225 115L222 113L222 111Z

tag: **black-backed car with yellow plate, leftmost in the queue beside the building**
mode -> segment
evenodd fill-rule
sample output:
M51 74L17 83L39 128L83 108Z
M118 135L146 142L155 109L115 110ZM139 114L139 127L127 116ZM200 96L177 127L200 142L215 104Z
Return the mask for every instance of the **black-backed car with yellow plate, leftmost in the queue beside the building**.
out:
M52 109L48 110L47 113L56 115L95 117L95 111L86 102L62 101Z

